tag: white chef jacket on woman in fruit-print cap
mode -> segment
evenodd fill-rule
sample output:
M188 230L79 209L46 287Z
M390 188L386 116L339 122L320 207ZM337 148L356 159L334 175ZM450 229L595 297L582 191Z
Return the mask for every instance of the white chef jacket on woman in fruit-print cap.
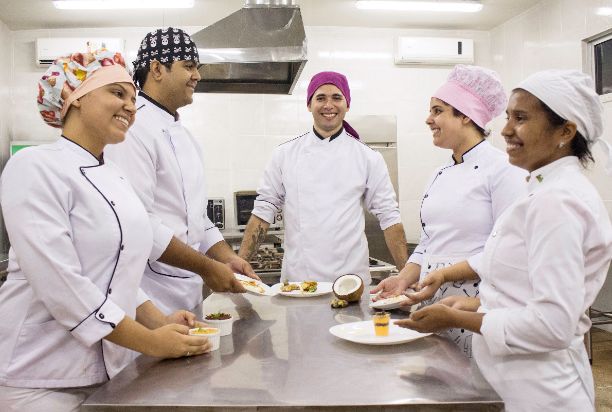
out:
M64 388L114 376L133 352L102 338L148 299L138 288L144 265L171 233L112 163L63 137L9 160L0 201L11 242L0 384Z

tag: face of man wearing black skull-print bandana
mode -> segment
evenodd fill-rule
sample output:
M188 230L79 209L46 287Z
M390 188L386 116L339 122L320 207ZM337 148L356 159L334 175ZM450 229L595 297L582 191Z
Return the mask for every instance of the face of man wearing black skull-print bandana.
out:
M200 80L198 63L191 60L175 61L172 70L160 65L163 72L161 89L164 91L160 103L171 112L190 105L193 102L193 92Z

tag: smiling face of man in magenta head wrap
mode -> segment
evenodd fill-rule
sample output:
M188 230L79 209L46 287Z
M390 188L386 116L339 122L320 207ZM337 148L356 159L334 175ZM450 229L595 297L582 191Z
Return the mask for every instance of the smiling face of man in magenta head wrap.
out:
M323 84L316 89L308 103L315 130L323 137L330 137L340 130L348 110L344 95L334 84Z

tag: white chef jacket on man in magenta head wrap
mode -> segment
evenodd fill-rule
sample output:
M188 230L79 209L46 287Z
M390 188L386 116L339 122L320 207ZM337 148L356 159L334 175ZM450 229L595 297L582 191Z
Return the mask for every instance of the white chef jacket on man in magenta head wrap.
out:
M272 223L285 206L282 277L334 282L343 274L371 282L364 205L381 229L401 223L383 156L346 131L311 131L272 152L253 214Z

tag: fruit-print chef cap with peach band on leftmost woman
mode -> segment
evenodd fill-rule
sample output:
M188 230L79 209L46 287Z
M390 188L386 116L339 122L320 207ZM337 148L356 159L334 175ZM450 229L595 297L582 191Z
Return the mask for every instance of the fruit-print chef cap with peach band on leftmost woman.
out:
M97 72L99 69L104 70ZM106 84L121 82L133 84L120 53L102 48L60 57L39 80L40 115L48 125L61 129L62 118L74 100Z

